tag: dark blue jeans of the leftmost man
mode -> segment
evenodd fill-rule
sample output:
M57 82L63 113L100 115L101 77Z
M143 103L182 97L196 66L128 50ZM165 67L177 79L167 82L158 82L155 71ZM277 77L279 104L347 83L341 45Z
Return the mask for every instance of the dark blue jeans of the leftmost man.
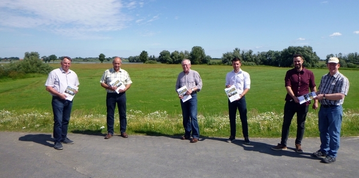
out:
M51 105L54 113L54 142L60 142L67 137L72 101L52 97Z

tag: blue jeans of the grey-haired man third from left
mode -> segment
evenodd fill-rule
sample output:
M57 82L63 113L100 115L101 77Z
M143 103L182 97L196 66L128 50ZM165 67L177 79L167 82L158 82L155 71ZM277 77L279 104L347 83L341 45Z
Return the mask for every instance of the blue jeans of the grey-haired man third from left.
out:
M192 94L192 98L186 102L181 102L184 135L199 138L199 126L197 120L197 94Z

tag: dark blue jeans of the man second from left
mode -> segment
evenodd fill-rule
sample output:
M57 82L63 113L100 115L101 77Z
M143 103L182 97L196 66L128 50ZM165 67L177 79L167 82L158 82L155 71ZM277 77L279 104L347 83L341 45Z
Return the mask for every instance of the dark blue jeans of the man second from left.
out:
M126 132L127 119L126 119L126 93L107 93L106 106L107 106L107 133L114 135L115 123L115 109L119 109L120 115L120 132Z

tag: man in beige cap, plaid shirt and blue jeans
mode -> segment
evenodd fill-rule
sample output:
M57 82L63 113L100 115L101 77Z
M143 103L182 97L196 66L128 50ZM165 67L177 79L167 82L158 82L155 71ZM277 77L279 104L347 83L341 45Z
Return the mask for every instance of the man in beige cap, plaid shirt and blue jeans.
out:
M314 157L323 158L324 163L336 161L340 143L340 127L343 114L342 104L348 94L349 80L339 73L339 59L329 58L327 62L329 70L319 84L317 99L320 109L318 113L318 127L320 137L320 149L313 153Z

